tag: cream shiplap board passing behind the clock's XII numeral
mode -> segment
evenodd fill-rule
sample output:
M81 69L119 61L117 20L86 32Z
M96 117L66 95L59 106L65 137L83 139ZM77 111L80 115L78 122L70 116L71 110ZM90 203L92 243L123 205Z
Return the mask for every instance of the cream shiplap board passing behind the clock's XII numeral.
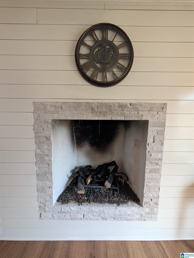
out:
M1 24L0 30L1 39L78 40L90 25ZM132 42L193 42L192 27L146 27L143 24L120 28Z

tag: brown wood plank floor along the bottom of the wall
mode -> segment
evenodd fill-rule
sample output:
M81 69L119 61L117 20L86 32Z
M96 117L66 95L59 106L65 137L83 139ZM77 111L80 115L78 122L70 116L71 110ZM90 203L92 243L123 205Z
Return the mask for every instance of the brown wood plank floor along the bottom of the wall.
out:
M1 258L179 258L194 240L0 241Z

